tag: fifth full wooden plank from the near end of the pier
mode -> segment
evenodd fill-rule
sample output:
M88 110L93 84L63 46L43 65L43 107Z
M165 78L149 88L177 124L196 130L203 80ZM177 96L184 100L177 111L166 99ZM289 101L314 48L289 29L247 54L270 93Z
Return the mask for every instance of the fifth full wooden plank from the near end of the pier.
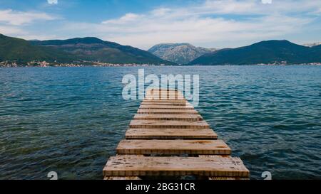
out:
M134 120L202 121L200 114L135 114Z

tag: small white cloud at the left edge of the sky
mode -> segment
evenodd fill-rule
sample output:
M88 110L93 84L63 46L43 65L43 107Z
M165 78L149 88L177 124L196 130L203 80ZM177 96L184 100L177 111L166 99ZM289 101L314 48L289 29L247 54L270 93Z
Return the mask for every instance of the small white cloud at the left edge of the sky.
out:
M11 9L0 10L0 23L13 26L24 25L34 21L54 20L54 16L45 13L13 11Z

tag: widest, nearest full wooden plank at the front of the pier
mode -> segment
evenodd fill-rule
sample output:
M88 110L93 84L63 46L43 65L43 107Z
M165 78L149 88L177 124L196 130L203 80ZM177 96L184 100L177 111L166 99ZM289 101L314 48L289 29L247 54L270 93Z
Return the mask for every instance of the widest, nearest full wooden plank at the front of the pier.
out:
M240 158L216 156L157 157L121 155L109 158L104 176L214 176L244 177L249 171Z

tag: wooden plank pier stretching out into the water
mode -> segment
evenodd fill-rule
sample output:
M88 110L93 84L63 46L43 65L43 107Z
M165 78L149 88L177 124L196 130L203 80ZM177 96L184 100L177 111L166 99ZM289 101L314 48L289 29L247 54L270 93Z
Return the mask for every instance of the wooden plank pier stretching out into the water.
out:
M250 174L177 90L148 90L116 152L103 168L105 180L237 180Z

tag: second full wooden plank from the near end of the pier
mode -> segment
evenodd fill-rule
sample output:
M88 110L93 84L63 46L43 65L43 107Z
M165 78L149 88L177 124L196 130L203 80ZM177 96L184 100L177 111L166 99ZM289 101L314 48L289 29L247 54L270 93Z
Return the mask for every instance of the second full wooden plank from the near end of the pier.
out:
M141 140L124 139L118 154L220 154L230 155L230 147L222 140Z

